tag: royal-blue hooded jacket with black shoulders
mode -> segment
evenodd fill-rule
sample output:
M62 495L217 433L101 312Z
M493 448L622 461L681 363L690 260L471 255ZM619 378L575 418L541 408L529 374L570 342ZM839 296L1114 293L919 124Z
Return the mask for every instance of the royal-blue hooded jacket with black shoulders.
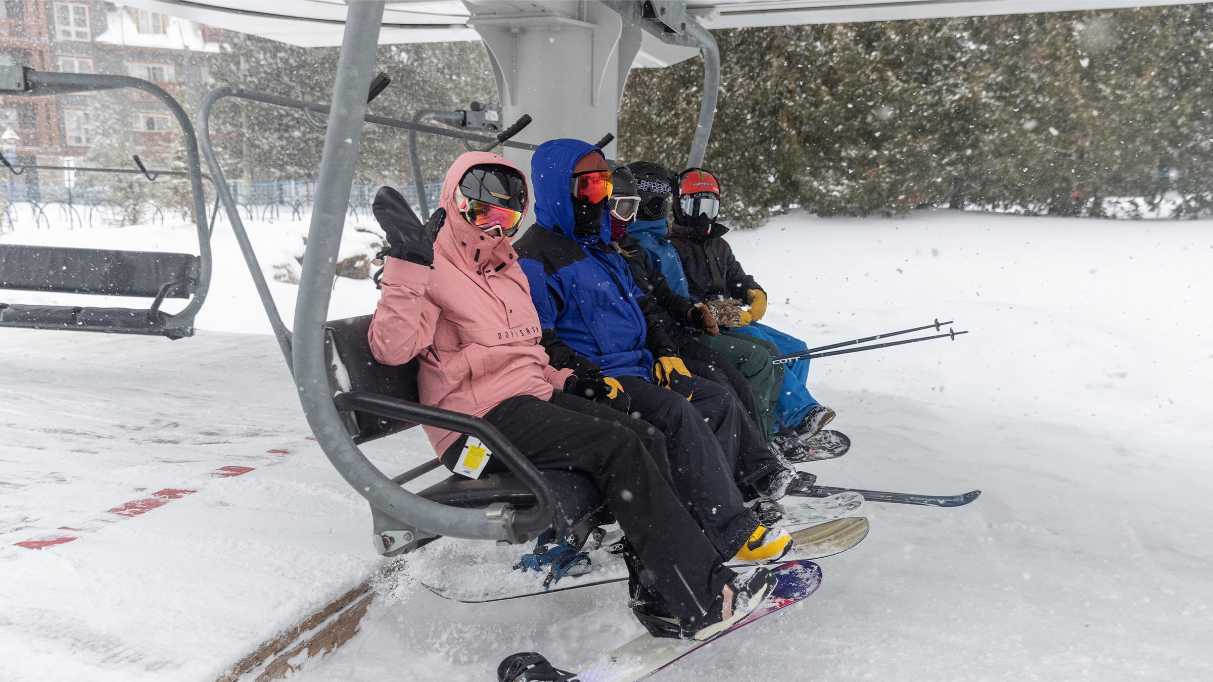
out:
M579 140L549 140L535 150L536 225L514 249L554 366L579 371L580 356L608 376L648 379L653 354L645 349L648 324L639 302L644 294L622 256L608 246L610 222L603 220L594 235L573 232L569 184L577 160L591 152L600 153Z

